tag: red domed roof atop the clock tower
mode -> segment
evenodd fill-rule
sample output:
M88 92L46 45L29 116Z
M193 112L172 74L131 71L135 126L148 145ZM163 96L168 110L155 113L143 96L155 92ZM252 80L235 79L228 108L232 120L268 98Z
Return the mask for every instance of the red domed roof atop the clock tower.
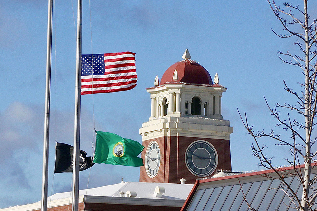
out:
M177 71L178 79L173 80L174 71ZM191 84L212 84L209 72L197 62L184 59L171 65L163 74L160 85L166 82L186 82Z

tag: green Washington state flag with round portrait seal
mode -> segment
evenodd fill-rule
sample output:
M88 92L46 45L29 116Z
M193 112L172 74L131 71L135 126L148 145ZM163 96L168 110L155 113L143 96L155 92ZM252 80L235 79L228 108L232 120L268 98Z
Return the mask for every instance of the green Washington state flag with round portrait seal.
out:
M114 133L96 131L96 147L93 163L142 166L138 155L144 146L139 142L125 139Z

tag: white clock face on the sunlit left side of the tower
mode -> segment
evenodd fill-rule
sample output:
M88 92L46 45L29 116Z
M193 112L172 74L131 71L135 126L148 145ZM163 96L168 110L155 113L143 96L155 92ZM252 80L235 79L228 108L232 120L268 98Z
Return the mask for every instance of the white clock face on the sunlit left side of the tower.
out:
M149 177L153 178L159 171L159 164L161 162L161 152L158 143L152 141L147 146L145 153L146 173Z

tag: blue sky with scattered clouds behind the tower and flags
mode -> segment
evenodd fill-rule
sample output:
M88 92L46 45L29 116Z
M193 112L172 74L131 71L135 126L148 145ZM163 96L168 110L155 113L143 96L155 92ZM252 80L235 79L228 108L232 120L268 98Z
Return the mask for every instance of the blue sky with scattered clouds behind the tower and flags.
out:
M301 5L302 1L294 3ZM76 2L73 4L76 13ZM316 11L317 3L310 4L310 11ZM0 208L4 208L41 200L47 2L0 0L0 5L0 189L4 190ZM54 145L55 139L73 143L75 96L76 40L71 1L56 1L54 14L49 194L71 189L71 173L55 174L53 183ZM83 54L91 53L91 48L93 53L136 53L138 85L130 91L94 95L96 130L141 142L139 128L151 112L145 88L153 86L156 75L161 78L169 66L181 60L188 48L191 58L212 78L217 72L219 83L228 88L223 93L222 115L234 127L230 138L232 170L261 169L252 156L252 139L237 108L247 112L256 130L275 129L284 135L275 127L263 96L271 106L294 103L296 99L283 91L283 80L297 91L297 82L303 81L299 69L277 57L279 50L296 53L297 49L295 40L280 39L271 31L282 33L266 1L95 0L91 2L92 31L88 1L83 1L82 15ZM91 95L82 96L81 109L81 150L91 155ZM288 148L274 146L271 140L262 143L268 146L266 152L274 157L275 165L287 164L284 158L289 157ZM96 164L91 171L80 173L81 189L87 187L89 173L88 187L119 183L121 177L139 180L138 167Z

